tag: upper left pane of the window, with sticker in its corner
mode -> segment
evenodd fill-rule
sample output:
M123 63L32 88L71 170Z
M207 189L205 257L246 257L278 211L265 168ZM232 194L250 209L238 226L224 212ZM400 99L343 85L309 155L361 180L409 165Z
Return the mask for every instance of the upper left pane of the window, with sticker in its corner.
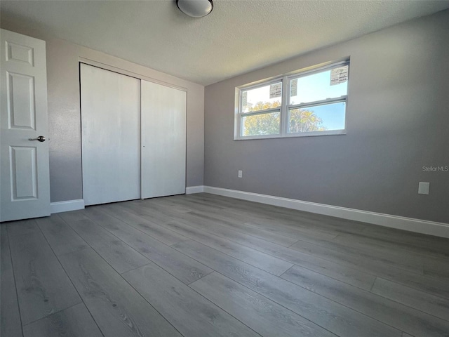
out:
M241 112L253 112L281 106L282 82L241 92Z

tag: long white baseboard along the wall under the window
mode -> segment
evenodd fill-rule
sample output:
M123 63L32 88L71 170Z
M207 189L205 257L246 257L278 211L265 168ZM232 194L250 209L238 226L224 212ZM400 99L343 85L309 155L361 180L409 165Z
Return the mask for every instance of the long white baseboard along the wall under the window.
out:
M315 202L274 197L272 195L266 194L227 190L220 187L203 186L203 191L201 192L218 194L236 199L255 201L262 204L281 206L288 209L297 209L299 211L318 213L325 216L335 216L337 218L361 221L363 223L372 223L374 225L397 228L399 230L408 230L410 232L449 238L448 223L436 223L434 221L406 218L403 216L392 216L389 214L361 211L358 209L347 209L340 206L317 204Z

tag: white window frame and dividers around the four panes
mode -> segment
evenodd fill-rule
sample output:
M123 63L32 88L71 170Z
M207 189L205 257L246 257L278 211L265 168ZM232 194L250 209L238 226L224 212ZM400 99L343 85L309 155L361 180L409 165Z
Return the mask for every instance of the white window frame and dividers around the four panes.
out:
M290 105L290 83L293 79L299 79L300 77L310 76L311 74L317 74L319 72L326 72L338 67L348 66L348 91L349 91L349 59L332 62L328 65L321 67L315 67L311 70L306 71L296 71L284 74L279 77L273 77L264 81L257 81L257 83L248 84L244 86L236 87L236 98L235 98L235 113L234 113L234 140L253 140L253 139L266 139L266 138L292 138L292 137L310 137L310 136L337 136L345 135L347 131L347 103L348 103L348 92L346 95L342 95L337 98L328 98L325 100L317 100L314 102L300 103ZM243 91L248 91L255 88L260 88L262 86L268 86L271 84L276 84L281 82L282 94L281 94L281 106L259 110L256 112L242 112L242 93ZM329 105L333 103L345 103L344 107L344 128L339 130L326 130L326 131L311 131L311 132L288 132L288 116L290 110L298 109L302 107L316 107L319 105ZM257 135L257 136L243 136L243 117L253 116L257 114L268 114L270 112L280 113L280 131L276 134L271 135Z

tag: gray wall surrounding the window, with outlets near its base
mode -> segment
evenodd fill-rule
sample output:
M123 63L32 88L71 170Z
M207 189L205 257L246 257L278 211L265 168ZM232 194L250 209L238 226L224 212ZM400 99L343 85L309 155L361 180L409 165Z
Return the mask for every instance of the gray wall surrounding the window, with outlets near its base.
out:
M233 140L236 86L348 56L347 135ZM444 11L206 86L204 185L448 223L448 58Z

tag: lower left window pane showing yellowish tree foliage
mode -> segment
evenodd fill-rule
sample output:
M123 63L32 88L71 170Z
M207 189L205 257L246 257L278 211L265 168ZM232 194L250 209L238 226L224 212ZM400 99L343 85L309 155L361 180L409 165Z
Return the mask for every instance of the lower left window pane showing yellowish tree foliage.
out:
M281 112L242 117L242 136L277 135L281 130Z

